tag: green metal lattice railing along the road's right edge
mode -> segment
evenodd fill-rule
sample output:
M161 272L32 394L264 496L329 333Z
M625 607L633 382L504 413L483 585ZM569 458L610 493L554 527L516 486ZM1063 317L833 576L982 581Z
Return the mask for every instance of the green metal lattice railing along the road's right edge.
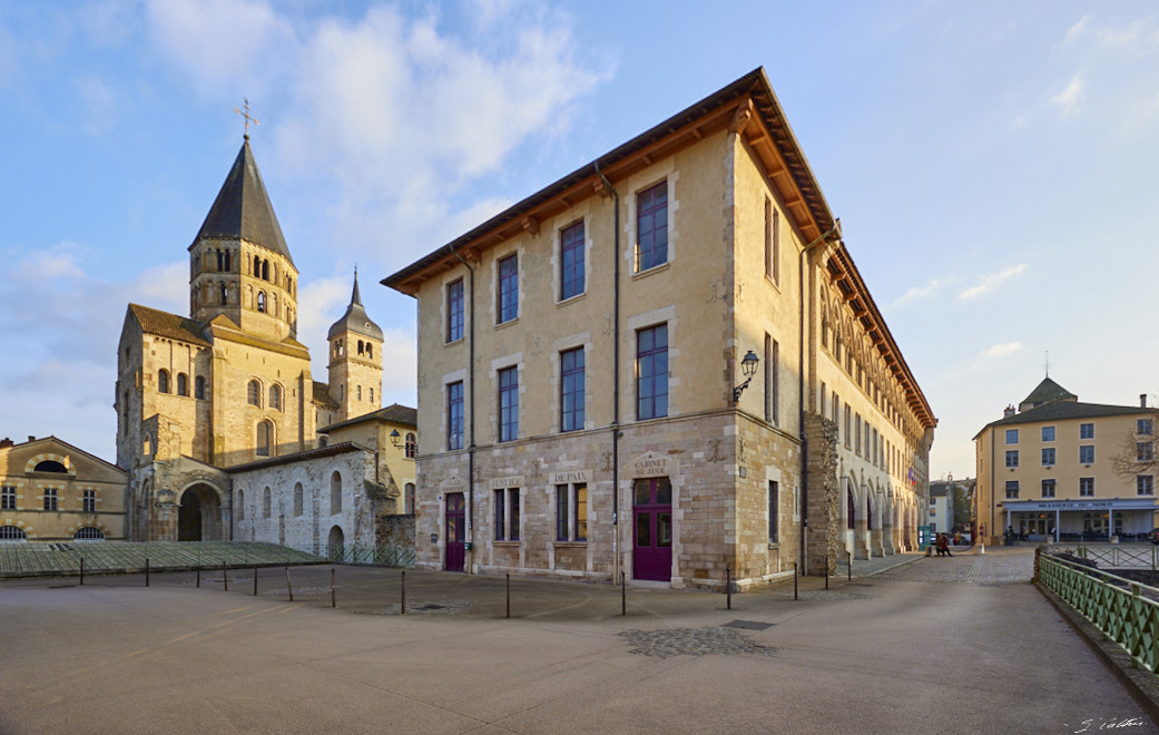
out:
M1049 554L1038 581L1151 672L1159 670L1159 589Z

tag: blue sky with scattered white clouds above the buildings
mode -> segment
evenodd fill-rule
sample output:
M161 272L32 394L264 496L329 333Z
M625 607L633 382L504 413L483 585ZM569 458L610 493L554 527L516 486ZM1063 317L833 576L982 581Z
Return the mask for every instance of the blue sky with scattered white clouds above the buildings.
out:
M1159 7L0 0L0 437L112 460L126 304L188 314L241 145L300 270L299 339L357 264L384 405L415 301L378 284L758 66L939 425L934 478L1050 377L1159 393Z

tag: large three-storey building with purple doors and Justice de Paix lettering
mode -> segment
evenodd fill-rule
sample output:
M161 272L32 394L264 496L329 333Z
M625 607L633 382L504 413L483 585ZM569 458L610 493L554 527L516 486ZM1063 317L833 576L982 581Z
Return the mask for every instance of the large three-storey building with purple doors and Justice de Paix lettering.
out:
M914 546L935 420L837 225L757 70L386 278L420 563L745 587Z

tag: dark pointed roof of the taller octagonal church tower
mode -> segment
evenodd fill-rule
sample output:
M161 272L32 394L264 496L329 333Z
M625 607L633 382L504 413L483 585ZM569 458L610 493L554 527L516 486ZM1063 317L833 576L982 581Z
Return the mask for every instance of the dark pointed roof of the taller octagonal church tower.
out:
M283 255L293 264L282 226L274 213L270 197L265 194L265 184L257 170L248 137L241 144L238 158L194 241L203 238L246 240Z

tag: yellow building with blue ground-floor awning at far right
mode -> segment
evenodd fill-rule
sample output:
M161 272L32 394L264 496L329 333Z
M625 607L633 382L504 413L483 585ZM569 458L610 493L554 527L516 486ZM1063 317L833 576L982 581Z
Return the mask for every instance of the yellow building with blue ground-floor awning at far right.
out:
M1154 408L1084 403L1049 377L974 437L982 536L1135 537L1159 522Z

